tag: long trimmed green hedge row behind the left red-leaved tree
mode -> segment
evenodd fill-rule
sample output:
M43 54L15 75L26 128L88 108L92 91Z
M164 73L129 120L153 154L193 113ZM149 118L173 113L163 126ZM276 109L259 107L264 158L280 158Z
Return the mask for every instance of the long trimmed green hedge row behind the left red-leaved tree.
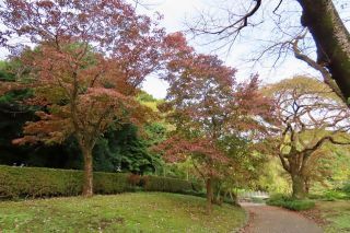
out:
M0 166L1 198L77 196L82 193L82 171ZM118 194L136 189L186 194L196 193L201 187L175 178L94 173L96 194Z

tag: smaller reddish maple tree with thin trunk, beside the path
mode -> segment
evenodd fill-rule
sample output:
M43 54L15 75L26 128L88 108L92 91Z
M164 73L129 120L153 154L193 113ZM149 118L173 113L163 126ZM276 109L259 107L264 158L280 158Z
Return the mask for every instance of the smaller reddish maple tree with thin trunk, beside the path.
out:
M257 116L268 117L270 105L257 91L257 77L236 83L235 69L224 66L215 56L196 54L180 33L168 36L167 40L173 44L164 77L170 89L160 109L176 129L158 150L170 162L190 156L206 182L210 213L213 180L223 176L219 164L229 163L219 141L225 135L258 137L264 126Z

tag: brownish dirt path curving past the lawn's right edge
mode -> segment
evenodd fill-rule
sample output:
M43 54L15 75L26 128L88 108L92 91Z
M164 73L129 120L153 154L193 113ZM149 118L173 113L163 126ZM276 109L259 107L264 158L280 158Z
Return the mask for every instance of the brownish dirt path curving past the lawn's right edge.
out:
M322 233L323 230L301 214L277 207L243 203L249 212L244 233Z

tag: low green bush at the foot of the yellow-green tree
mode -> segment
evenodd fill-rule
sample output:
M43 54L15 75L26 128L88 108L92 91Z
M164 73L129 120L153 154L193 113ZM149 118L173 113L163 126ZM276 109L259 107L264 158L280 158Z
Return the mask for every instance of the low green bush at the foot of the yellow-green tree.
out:
M299 200L293 199L284 195L275 195L271 196L269 200L266 201L267 205L282 207L289 210L301 211L310 210L315 207L315 202L312 200Z

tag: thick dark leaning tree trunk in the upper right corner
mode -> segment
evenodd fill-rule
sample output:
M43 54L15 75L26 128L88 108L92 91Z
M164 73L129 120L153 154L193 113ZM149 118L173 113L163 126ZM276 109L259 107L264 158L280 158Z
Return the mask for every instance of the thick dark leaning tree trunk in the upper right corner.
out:
M343 96L350 97L350 34L331 0L298 0L303 9L302 24L317 47L317 62L325 66Z

